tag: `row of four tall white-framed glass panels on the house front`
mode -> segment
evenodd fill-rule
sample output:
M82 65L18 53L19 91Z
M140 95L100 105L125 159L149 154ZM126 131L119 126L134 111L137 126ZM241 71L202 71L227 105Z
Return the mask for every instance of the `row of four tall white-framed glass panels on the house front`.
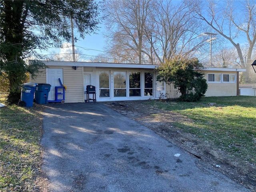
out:
M150 70L129 70L129 69L99 69L97 95L102 101L110 98L150 98L164 91L164 82L158 83L157 90L154 90L154 72ZM118 99L118 100L119 100Z

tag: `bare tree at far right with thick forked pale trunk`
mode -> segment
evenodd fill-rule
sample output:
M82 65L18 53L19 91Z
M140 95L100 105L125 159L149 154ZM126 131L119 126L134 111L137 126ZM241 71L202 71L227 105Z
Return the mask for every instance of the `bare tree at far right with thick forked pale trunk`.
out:
M240 66L250 71L252 52L256 42L256 4L246 1L198 1L196 18L206 22L215 32L228 40L235 48ZM244 38L246 54L243 54L239 40ZM247 77L249 78L249 77Z

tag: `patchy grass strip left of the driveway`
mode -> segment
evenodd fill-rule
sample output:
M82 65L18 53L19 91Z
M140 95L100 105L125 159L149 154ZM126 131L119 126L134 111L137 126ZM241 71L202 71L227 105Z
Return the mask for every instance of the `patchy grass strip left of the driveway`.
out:
M7 106L0 114L0 191L33 191L41 162L40 110Z

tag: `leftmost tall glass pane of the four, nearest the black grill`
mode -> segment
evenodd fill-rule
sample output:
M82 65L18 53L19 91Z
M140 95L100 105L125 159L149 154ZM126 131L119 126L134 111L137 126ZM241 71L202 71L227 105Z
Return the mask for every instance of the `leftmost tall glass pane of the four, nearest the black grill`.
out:
M100 71L100 97L109 97L109 71Z

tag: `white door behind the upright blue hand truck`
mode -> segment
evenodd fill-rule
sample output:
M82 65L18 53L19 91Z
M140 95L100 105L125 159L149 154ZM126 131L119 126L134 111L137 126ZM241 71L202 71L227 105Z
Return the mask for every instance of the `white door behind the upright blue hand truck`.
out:
M51 85L50 92L48 94L48 100L55 100L55 87L60 86L59 78L63 84L63 69L46 69L46 83Z

